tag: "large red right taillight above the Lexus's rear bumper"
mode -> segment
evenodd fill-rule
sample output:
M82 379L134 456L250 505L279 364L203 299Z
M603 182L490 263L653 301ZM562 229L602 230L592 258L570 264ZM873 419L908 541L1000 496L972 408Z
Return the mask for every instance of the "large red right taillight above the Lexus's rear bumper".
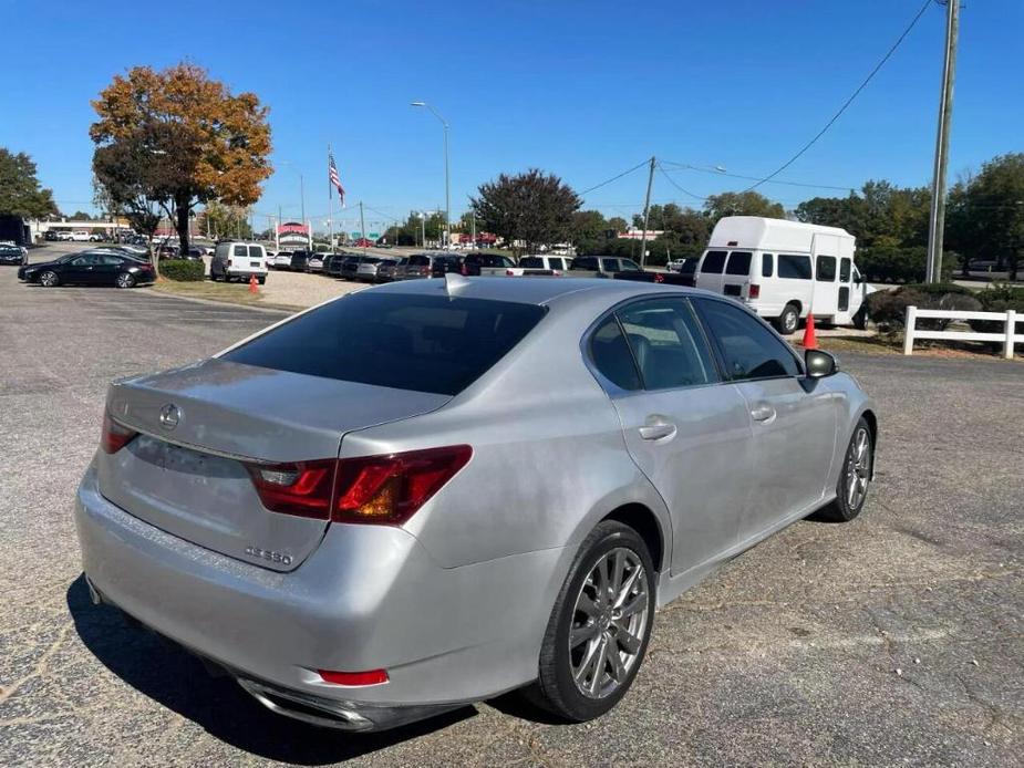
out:
M335 522L399 526L469 461L455 445L386 456L247 465L262 505L272 512Z

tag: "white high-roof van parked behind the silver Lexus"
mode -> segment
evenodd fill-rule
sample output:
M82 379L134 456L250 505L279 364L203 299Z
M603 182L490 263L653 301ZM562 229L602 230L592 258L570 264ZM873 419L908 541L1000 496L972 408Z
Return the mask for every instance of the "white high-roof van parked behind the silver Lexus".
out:
M715 225L695 284L738 299L794 333L800 319L863 328L868 284L854 264L856 242L838 227L727 216Z

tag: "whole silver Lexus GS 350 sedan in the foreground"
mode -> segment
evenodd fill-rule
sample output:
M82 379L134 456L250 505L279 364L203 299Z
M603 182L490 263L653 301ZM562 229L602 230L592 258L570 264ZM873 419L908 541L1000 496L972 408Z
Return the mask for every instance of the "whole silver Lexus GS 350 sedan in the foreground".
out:
M448 276L114 383L75 519L95 601L282 715L373 730L523 688L578 722L660 605L856 517L877 429L831 355L725 297Z

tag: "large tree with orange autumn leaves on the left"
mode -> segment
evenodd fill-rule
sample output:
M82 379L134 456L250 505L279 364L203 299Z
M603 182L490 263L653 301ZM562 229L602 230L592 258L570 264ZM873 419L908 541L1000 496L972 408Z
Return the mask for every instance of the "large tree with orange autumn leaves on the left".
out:
M231 94L194 64L162 72L135 66L115 75L92 105L99 184L130 217L137 209L152 224L152 211L163 210L183 253L197 205L251 205L272 173L267 107L252 93Z

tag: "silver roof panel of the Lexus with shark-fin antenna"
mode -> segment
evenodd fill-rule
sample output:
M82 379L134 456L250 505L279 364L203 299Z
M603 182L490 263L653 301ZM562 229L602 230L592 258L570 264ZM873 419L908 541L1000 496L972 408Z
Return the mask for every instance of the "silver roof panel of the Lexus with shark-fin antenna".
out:
M549 304L569 294L586 292L599 301L618 302L651 293L715 295L683 286L608 280L601 278L461 278L454 295L490 301L514 301L524 304ZM372 289L382 293L430 294L445 292L445 280L403 280Z

